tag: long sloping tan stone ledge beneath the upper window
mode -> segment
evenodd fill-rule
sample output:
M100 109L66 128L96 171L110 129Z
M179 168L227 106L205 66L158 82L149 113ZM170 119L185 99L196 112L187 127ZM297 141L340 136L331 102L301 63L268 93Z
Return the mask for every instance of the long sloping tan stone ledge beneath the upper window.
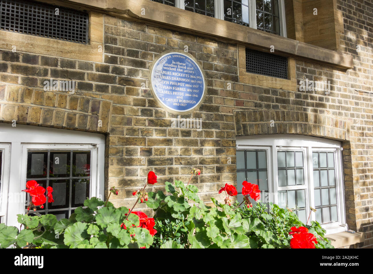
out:
M89 7L97 12L107 13L122 19L148 22L163 28L184 31L228 42L238 42L256 50L269 52L275 46L275 53L281 56L294 57L301 60L313 60L342 69L352 69L352 56L326 48L317 47L304 42L269 34L257 29L241 26L232 22L189 12L177 7L167 6L150 0L70 0L51 1L62 6L76 9ZM69 3L69 4L67 4ZM77 6L78 5L78 6ZM141 11L145 15L141 15Z

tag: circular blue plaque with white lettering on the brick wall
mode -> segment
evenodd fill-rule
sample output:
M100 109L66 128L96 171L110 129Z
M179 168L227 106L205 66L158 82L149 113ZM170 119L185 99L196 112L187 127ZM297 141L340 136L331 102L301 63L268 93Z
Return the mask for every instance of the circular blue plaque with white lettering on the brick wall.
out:
M203 71L197 61L185 53L161 55L153 64L150 82L157 100L178 113L199 106L205 93Z

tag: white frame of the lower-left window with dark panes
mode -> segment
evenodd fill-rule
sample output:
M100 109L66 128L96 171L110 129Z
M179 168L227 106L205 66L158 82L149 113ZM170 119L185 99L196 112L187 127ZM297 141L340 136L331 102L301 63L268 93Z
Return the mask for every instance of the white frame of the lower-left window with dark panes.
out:
M5 213L2 222L18 227L17 214L25 212L26 164L28 149L78 149L91 150L90 195L104 197L104 155L105 136L76 130L55 129L37 126L0 124L0 146L9 145L9 171L7 187L1 189L1 197L19 197L12 203L2 199L1 211ZM1 148L1 147L0 147ZM94 169L95 168L95 169ZM6 168L4 168L5 170ZM93 171L93 172L92 172ZM2 185L6 185L5 182Z

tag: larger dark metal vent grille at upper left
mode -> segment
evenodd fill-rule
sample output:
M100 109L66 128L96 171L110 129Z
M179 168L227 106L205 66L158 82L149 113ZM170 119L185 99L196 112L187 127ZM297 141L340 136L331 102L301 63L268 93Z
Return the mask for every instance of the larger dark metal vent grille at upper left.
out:
M0 29L87 44L88 13L34 1L0 0Z

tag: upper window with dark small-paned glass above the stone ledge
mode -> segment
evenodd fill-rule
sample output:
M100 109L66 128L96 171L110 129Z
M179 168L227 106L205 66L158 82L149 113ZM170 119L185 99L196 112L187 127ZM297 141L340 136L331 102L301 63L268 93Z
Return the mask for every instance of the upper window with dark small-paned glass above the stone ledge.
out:
M151 0L286 37L284 0Z

